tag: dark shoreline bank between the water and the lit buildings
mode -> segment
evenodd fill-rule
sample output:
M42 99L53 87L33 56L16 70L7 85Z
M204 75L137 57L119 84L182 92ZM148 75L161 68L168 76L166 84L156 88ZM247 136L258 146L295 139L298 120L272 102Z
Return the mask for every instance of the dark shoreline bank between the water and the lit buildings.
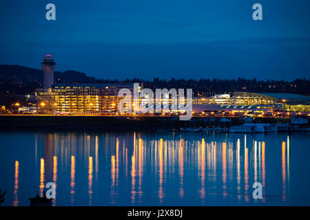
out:
M222 118L229 122L221 122ZM291 118L254 118L255 123L289 123ZM243 124L240 117L193 116L180 121L178 116L116 115L0 115L0 130L102 130L102 131L177 131L180 128L229 128Z

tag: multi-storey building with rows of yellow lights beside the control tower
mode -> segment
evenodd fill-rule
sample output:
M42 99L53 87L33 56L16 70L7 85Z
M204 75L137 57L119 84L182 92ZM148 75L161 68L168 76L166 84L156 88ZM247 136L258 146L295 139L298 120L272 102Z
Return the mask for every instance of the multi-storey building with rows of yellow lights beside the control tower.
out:
M118 91L123 88L133 93L133 84L55 84L49 89L37 89L36 96L41 113L114 113L120 99Z

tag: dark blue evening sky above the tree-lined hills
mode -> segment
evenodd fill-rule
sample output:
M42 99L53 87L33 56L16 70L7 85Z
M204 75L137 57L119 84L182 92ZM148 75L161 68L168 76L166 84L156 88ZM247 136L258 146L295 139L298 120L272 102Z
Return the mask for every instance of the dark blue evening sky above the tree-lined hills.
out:
M52 54L97 78L309 78L310 1L1 0L0 49L0 64Z

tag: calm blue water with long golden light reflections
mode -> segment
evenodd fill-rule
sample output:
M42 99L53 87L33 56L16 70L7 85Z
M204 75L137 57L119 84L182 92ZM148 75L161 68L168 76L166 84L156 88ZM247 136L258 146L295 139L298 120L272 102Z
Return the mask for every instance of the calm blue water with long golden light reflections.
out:
M1 132L2 206L309 206L309 133ZM254 199L254 182L262 199Z

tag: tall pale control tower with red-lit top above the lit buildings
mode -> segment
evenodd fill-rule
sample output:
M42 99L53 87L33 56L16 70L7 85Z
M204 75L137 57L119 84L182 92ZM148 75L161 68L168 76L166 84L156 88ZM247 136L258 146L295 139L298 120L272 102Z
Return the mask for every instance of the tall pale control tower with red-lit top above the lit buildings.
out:
M44 56L41 67L44 72L44 89L49 89L52 87L52 83L54 83L54 69L56 68L54 57L52 55Z

